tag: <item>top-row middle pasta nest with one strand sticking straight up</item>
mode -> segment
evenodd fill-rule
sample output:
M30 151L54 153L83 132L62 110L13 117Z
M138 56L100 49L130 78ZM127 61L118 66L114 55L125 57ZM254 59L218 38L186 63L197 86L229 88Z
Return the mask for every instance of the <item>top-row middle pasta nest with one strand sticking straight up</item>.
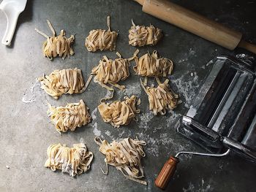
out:
M87 50L95 52L97 50L116 50L116 38L118 33L110 30L110 16L108 16L108 31L95 29L89 32L86 37L85 46Z

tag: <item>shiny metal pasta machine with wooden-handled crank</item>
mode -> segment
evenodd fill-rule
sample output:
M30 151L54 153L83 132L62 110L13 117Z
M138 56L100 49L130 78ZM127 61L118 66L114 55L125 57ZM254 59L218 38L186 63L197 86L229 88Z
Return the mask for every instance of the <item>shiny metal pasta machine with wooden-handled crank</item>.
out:
M219 56L186 115L177 123L178 133L208 153L181 151L171 156L155 184L164 189L181 154L224 156L233 151L256 162L256 73L246 57Z

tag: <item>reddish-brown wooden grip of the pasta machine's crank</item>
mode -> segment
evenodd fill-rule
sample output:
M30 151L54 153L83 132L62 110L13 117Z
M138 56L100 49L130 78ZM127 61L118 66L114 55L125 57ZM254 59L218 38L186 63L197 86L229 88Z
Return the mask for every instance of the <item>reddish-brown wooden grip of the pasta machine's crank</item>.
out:
M154 182L158 188L165 190L170 178L176 172L177 164L178 158L173 156L170 156L170 158L165 162L165 165L162 167L161 172L158 174L157 179Z

